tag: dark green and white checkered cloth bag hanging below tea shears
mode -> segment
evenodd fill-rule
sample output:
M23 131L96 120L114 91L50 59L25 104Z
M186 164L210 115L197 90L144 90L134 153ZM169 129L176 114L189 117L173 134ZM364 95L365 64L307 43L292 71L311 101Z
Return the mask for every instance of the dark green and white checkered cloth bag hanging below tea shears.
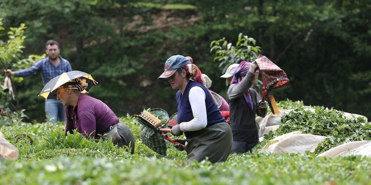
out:
M160 133L155 133L145 126L142 127L140 133L143 144L158 154L166 155L166 141Z

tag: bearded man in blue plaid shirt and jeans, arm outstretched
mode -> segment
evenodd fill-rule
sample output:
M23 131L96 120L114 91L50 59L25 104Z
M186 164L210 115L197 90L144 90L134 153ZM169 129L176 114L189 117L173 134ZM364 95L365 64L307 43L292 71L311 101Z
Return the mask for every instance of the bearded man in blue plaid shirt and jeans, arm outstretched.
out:
M45 86L52 78L63 72L72 71L69 61L59 55L58 42L49 40L45 47L46 58L41 59L35 65L27 69L19 71L4 70L5 75L27 77L36 72L41 72L41 77ZM65 107L57 99L48 99L45 101L45 114L46 118L50 121L66 121Z

